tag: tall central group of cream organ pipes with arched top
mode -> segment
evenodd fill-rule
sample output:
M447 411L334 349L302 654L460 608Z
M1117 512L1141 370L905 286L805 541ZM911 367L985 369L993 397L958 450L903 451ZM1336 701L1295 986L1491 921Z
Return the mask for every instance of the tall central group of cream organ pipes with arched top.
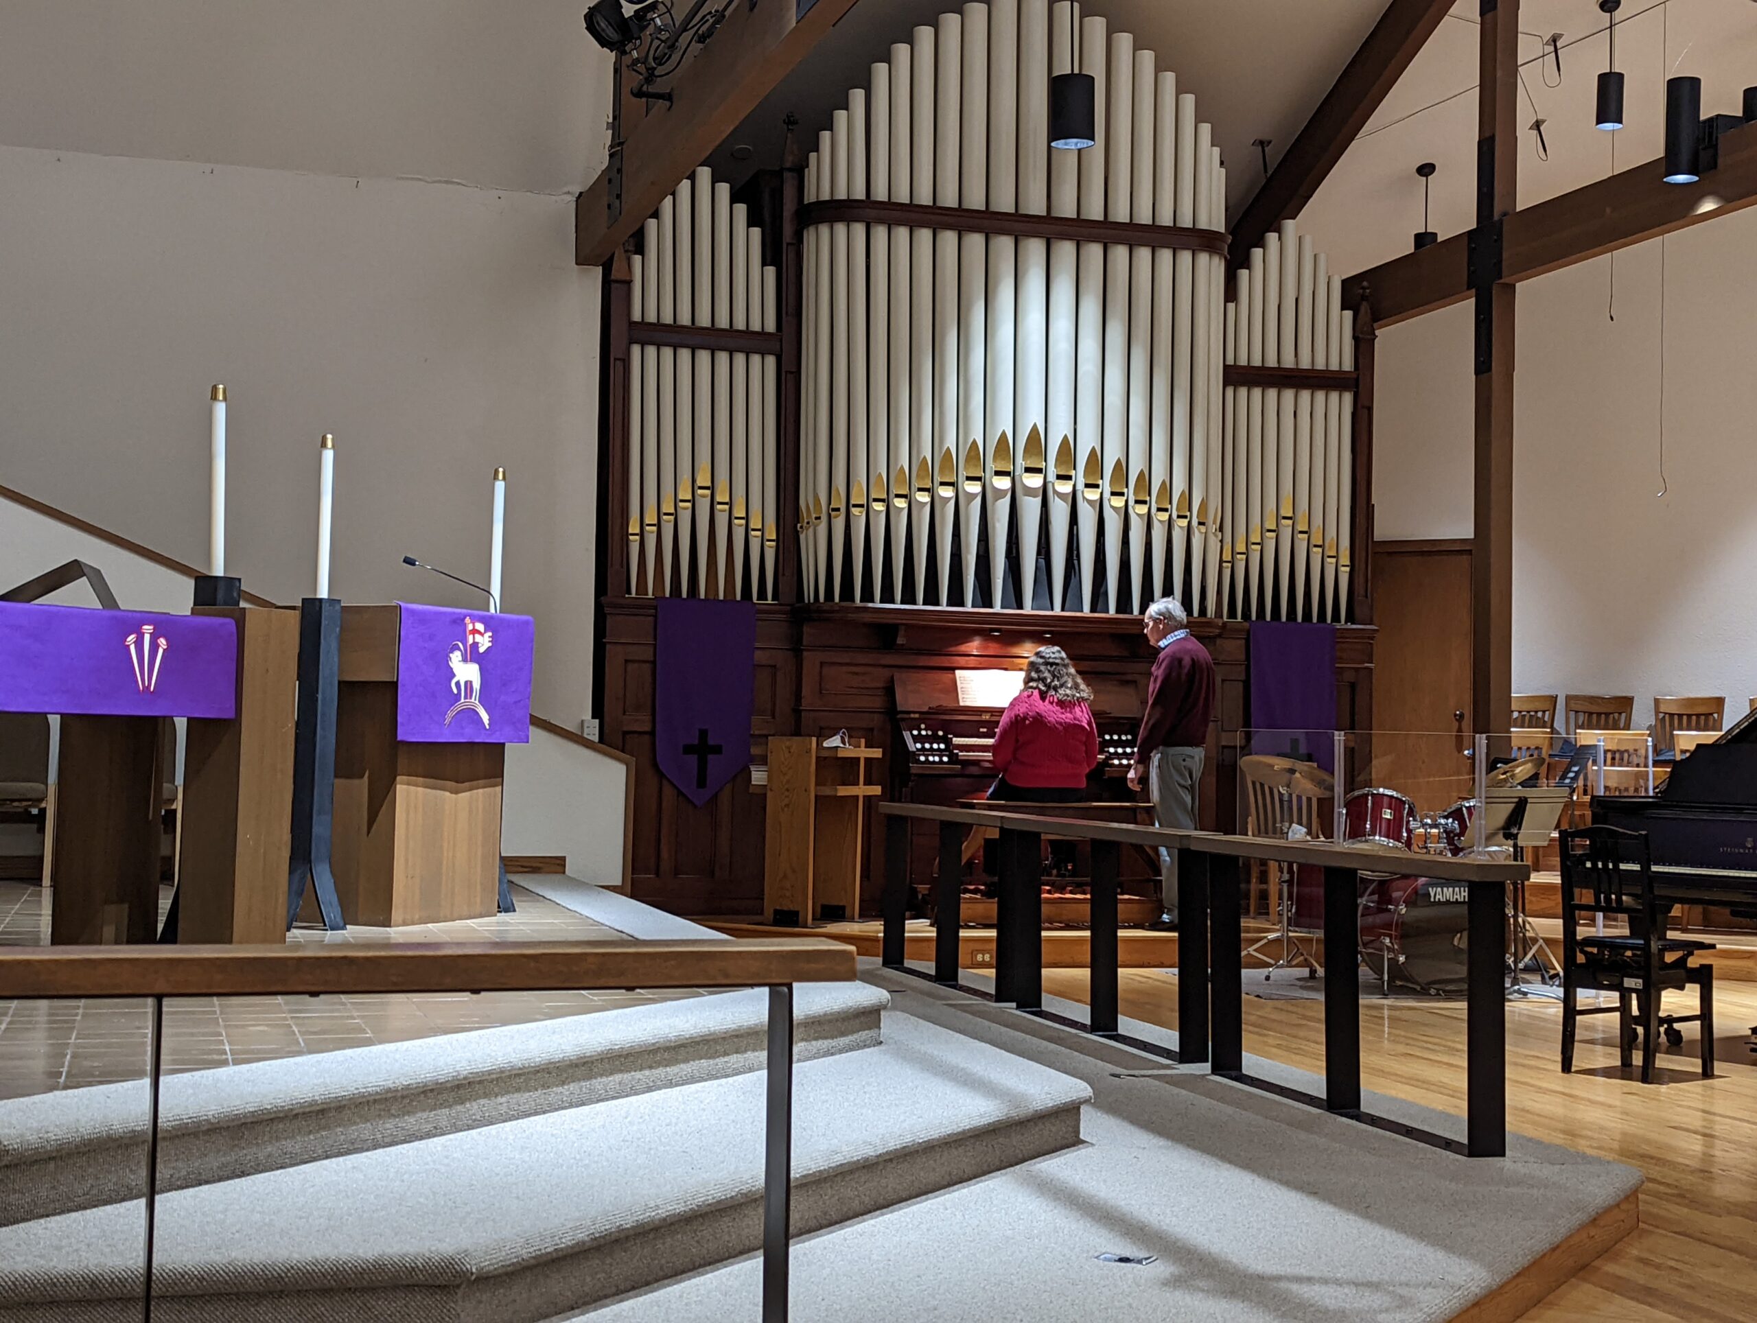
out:
M1081 153L1049 146L1072 69ZM1077 5L966 4L871 65L805 179L805 596L1202 610L1225 170L1177 76Z

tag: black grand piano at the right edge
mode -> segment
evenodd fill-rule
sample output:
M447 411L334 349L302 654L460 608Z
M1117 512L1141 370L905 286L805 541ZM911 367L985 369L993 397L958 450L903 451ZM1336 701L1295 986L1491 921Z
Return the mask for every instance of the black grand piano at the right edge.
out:
M1592 821L1648 833L1653 889L1757 917L1757 712L1697 745L1650 796L1594 796Z

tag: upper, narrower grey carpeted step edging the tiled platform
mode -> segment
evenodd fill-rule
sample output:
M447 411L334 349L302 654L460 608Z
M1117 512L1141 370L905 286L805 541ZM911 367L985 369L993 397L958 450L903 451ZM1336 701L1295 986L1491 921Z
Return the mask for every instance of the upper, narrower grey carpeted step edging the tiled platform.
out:
M871 1047L889 994L805 984L799 1059ZM761 1070L768 993L167 1075L160 1191ZM0 1226L141 1196L139 1082L0 1102Z

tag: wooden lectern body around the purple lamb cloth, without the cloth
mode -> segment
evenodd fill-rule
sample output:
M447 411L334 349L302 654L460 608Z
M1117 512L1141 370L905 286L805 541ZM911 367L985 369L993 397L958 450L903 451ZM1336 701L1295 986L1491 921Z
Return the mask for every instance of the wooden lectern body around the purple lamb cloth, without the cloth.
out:
M344 606L336 717L336 894L351 924L483 919L501 877L499 743L397 738L401 606Z

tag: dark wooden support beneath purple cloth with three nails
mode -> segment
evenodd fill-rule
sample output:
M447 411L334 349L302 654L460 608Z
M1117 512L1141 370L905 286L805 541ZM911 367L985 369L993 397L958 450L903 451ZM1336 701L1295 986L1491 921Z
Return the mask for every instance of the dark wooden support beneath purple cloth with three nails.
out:
M61 717L54 945L158 936L158 717Z

